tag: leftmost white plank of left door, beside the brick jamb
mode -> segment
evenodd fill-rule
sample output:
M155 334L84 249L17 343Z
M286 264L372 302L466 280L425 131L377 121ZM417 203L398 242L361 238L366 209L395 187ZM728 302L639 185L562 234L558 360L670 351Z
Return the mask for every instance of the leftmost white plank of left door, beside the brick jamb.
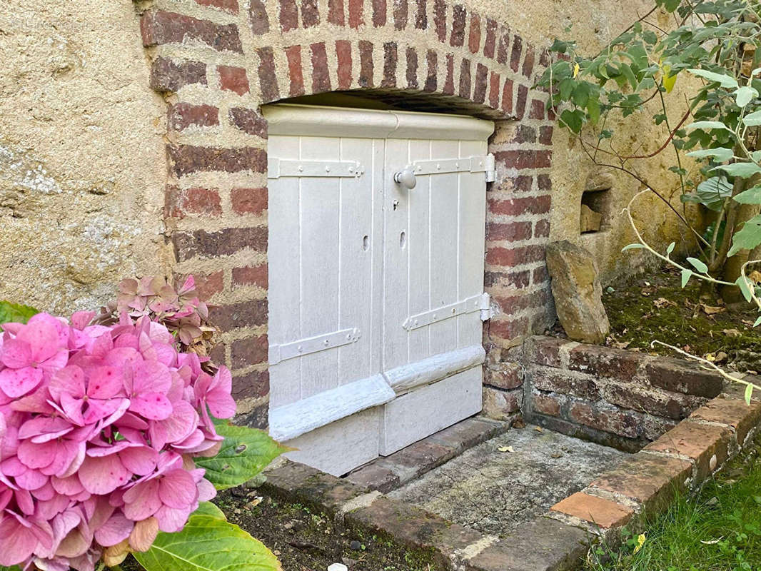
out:
M296 158L300 140L272 136L268 152L273 157ZM301 339L298 307L301 299L300 180L283 177L268 181L269 188L269 330L271 345ZM291 404L301 398L301 362L290 359L269 368L269 405Z

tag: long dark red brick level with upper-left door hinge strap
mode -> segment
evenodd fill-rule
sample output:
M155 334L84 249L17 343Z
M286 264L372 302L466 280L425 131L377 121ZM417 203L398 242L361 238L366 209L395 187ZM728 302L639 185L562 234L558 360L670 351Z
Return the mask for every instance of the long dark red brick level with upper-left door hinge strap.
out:
M212 148L193 145L168 145L172 172L177 177L199 171L263 173L267 154L261 148Z

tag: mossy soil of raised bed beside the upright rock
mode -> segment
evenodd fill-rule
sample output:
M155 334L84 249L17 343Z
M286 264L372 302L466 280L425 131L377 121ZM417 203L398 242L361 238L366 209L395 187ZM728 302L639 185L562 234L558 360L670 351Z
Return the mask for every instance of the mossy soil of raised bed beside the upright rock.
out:
M761 327L753 329L758 312L750 306L727 308L721 301L704 303L699 294L697 280L682 289L680 275L671 267L603 287L611 327L606 344L679 356L651 346L660 340L693 355L718 356L720 365L761 372Z

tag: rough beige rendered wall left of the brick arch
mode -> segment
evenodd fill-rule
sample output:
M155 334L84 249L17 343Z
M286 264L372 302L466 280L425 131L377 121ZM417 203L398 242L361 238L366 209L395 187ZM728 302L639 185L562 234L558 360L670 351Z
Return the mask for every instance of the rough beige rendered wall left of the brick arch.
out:
M164 102L129 0L0 13L0 298L97 308L164 273Z

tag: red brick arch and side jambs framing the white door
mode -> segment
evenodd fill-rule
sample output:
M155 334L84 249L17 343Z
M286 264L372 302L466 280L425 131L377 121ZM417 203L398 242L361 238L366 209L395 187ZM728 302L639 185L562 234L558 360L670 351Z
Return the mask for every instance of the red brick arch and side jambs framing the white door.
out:
M155 0L141 14L151 88L167 100L164 211L177 273L201 277L248 422L263 426L267 372L267 124L260 106L361 90L409 105L443 101L497 121L490 152L486 402L515 413L508 349L552 315L544 265L554 116L532 88L546 52L445 0ZM430 109L429 109L430 110Z

